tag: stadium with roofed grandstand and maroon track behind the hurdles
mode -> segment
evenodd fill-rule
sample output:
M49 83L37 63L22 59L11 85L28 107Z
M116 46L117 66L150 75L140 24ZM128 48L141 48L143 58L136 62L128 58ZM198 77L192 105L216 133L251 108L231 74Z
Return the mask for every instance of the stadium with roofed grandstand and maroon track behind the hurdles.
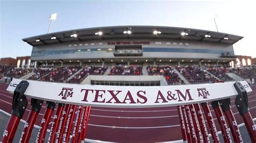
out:
M233 49L233 45L242 38L239 35L192 28L132 25L48 33L22 39L32 46L31 56L25 59L17 58L15 65L12 66L2 64L1 74L2 80L6 79L5 82L8 83L11 82L10 77L45 84L53 82L68 83L74 86L77 84L125 86L123 89L127 86L148 88L168 86L172 88L186 85L226 85L236 81L247 81L246 84L248 83L253 90L248 93L248 109L255 123L255 66L251 57L235 55ZM13 94L6 91L7 87L8 84L1 83L1 125L4 126L8 123L10 116L8 113L12 111L13 102ZM178 95L179 93L177 91ZM139 97L142 98L142 96ZM231 113L237 121L241 138L244 142L248 142L253 133L247 133L241 113L235 106L235 97L231 97L230 100ZM28 103L31 102L29 99ZM196 105L194 106L196 109ZM221 132L223 126L219 125L219 116L215 111L216 105L208 102L207 106L210 106L209 111L215 122L220 142L226 141L224 133ZM76 117L79 119L77 111L82 111L80 106L72 106L72 108L76 113L73 113L75 116L73 121L71 118L70 135L75 131ZM190 109L192 108L190 106ZM44 102L42 109L38 111L29 141L36 140L46 109L47 105ZM51 125L53 126L54 115L58 111L56 110L57 104L49 117L49 130ZM87 142L185 141L184 134L181 134L183 130L177 106L150 108L91 106L88 110L87 115L90 118L87 119L88 127L85 132ZM206 112L203 107L200 110L203 113ZM69 110L65 109L65 111ZM29 117L29 112L30 110L26 109L22 117L24 122ZM205 124L210 124L208 123L210 120L206 120L206 115L204 119ZM230 118L226 117L227 119ZM211 128L211 126L207 128L209 134L213 133ZM230 130L232 139L237 141L232 127ZM22 131L22 125L19 125L14 142L19 140ZM4 128L0 133L4 134ZM45 139L48 139L48 136L49 131L46 131ZM214 140L212 135L210 135L210 140ZM197 141L200 139L198 138Z

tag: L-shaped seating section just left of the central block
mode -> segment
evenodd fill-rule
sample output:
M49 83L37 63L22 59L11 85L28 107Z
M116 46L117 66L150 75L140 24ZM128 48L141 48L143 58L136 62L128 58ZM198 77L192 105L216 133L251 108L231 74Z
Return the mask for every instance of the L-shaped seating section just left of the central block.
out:
M107 67L103 66L85 66L83 70L81 70L77 75L75 75L68 83L81 83L87 75L103 75L106 71Z

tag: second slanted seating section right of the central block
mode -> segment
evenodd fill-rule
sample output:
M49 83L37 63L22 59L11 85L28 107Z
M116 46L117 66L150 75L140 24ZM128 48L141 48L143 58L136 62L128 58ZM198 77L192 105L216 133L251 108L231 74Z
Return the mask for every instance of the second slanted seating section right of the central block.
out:
M176 69L191 83L216 83L221 82L198 66L176 66Z

